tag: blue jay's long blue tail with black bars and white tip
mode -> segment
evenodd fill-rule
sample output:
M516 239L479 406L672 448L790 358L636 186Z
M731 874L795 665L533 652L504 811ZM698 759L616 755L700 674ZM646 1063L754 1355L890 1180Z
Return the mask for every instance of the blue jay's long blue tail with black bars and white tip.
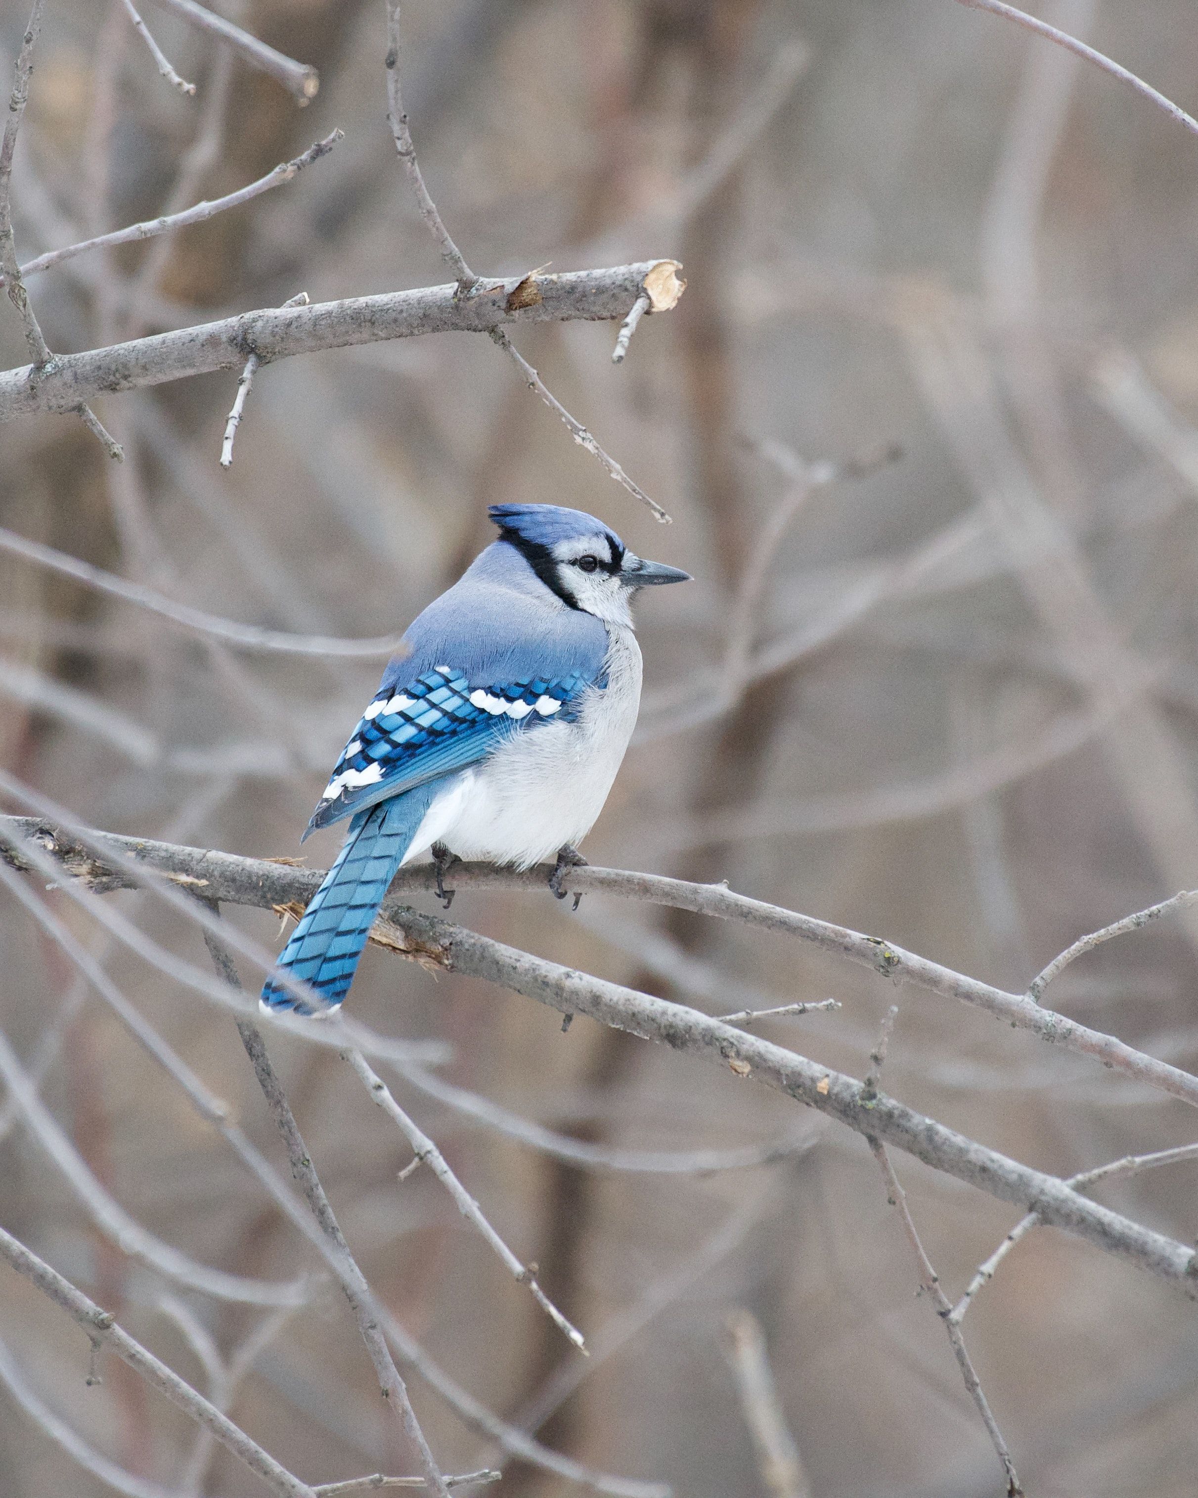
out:
M279 968L307 983L329 1008L349 992L388 885L440 788L418 786L353 818L337 861L283 948ZM270 978L262 1007L314 1013Z

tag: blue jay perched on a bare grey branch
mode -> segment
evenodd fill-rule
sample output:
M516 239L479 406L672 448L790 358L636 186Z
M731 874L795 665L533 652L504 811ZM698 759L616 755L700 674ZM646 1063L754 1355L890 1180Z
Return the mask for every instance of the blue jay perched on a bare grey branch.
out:
M422 855L584 863L641 700L632 599L690 581L595 515L490 505L494 539L421 613L332 768L304 837L349 818L337 861L262 989L268 1013L334 1013L398 867ZM302 839L301 839L302 840ZM288 978L301 980L317 1004Z

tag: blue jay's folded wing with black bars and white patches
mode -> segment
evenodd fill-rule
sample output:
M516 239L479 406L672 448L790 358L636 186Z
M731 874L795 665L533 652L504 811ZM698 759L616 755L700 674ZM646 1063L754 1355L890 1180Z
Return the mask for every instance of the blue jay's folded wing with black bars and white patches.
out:
M574 721L586 689L602 685L600 677L574 670L472 689L463 671L440 665L403 686L380 688L341 750L304 836L476 764L511 734L550 719Z

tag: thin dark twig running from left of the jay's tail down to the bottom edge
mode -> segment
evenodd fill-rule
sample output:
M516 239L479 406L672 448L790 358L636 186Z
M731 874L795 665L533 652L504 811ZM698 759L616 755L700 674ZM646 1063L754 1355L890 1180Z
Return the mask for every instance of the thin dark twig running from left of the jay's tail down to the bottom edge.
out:
M216 897L205 896L204 903L210 906L214 915L217 914L219 902ZM213 957L217 972L225 978L231 989L240 990L241 980L238 978L234 960L220 938L211 930L205 930L204 942ZM412 1401L407 1395L407 1386L400 1377L400 1371L395 1368L395 1360L392 1359L386 1345L386 1338L382 1333L380 1311L374 1299L374 1291L370 1288L365 1275L358 1267L358 1260L350 1252L349 1243L346 1242L337 1218L332 1213L332 1207L325 1195L325 1188L320 1185L320 1177L316 1174L316 1167L311 1162L307 1146L304 1144L304 1138L300 1132L300 1125L295 1122L295 1115L292 1113L288 1097L283 1092L283 1085L280 1083L279 1074L267 1055L267 1046L262 1040L262 1034L258 1026L249 1020L238 1020L237 1031L241 1035L241 1044L246 1047L246 1055L250 1058L250 1065L258 1077L258 1085L262 1088L267 1107L270 1109L283 1138L283 1147L286 1149L288 1161L291 1162L291 1173L295 1180L300 1182L300 1189L304 1192L308 1207L311 1209L311 1215L325 1239L325 1257L340 1281L344 1297L353 1312L353 1320L358 1323L358 1332L361 1333L362 1342L365 1342L365 1350L370 1354L370 1362L374 1365L374 1374L379 1380L379 1393L388 1402L388 1408L394 1411L404 1434L412 1443L419 1458L419 1464L424 1468L428 1486L433 1488L434 1492L445 1495L448 1494L445 1477L442 1476L436 1458L428 1447L424 1431L421 1431L419 1422L416 1420L416 1411L412 1408Z

